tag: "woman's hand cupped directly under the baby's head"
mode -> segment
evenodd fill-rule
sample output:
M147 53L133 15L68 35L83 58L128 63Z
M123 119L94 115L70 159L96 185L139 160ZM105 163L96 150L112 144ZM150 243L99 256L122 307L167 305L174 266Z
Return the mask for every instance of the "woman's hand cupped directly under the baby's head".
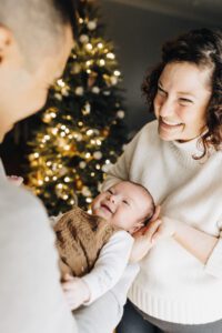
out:
M143 259L148 251L154 245L153 236L161 225L161 220L158 218L159 214L160 206L157 206L153 218L149 221L148 225L133 233L134 243L130 262L138 262Z

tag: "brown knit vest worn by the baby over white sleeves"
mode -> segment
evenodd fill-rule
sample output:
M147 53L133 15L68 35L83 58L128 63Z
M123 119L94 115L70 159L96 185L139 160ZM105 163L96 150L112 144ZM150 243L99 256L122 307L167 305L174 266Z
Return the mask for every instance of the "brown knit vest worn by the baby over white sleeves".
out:
M105 220L80 208L64 213L54 225L62 276L82 276L93 268L100 250L117 231Z

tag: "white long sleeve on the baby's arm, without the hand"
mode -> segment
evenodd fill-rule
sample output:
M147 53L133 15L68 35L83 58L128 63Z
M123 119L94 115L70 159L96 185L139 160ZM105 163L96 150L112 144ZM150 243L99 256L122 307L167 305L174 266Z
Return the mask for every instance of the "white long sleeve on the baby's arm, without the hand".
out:
M125 231L115 232L102 248L92 271L82 280L90 289L90 300L84 305L111 290L122 276L128 264L133 238Z

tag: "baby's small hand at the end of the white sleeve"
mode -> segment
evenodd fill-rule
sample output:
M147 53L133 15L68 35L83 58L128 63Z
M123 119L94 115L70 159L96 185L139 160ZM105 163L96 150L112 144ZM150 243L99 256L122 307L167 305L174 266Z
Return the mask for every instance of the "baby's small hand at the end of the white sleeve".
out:
M90 299L90 290L80 278L65 274L62 289L70 310L75 310Z

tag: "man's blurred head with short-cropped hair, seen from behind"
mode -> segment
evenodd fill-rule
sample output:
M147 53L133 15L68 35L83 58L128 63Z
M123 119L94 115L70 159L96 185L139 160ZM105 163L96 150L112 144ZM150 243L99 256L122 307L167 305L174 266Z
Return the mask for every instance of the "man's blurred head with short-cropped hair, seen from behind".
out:
M0 0L0 142L43 107L73 43L74 0Z

